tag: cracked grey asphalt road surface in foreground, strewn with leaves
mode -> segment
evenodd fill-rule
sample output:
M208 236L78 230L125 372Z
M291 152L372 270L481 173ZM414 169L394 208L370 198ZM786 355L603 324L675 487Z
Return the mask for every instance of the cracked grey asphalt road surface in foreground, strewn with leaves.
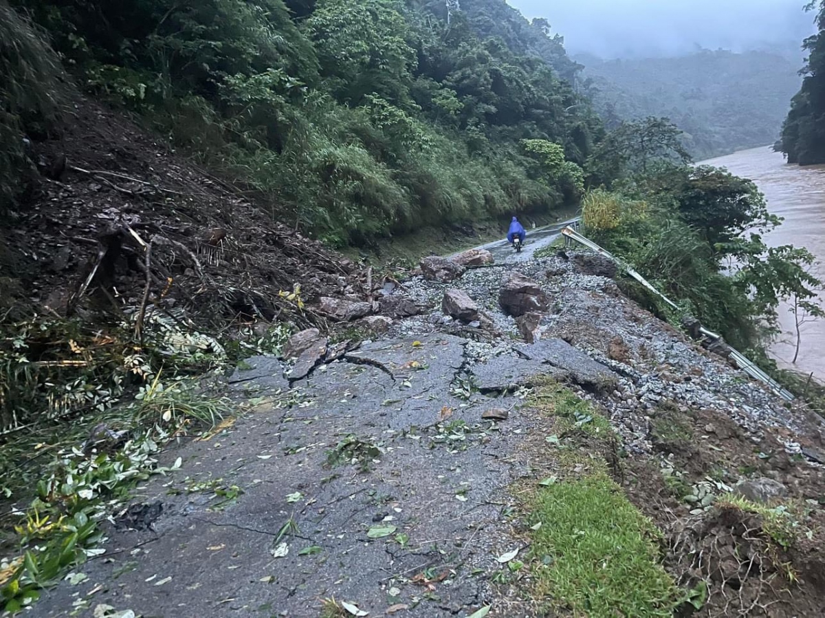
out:
M431 618L485 605L496 556L512 549L507 486L525 474L512 454L534 420L513 396L454 391L465 339L419 339L363 344L287 394L279 362L253 362L236 396L257 406L166 452L181 470L138 489L136 503L163 504L153 529L109 526L106 554L78 569L87 579L45 591L29 615L106 604L144 618L310 618L334 597ZM509 419L483 420L491 407Z

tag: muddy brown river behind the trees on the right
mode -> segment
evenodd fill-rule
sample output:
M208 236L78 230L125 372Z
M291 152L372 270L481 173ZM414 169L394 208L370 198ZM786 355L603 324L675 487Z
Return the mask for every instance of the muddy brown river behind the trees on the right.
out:
M813 273L825 280L825 166L790 166L781 153L770 147L735 152L701 164L727 167L733 174L756 182L771 213L785 219L766 236L766 242L771 246L807 247L820 261ZM825 294L820 293L819 299L825 305ZM781 366L813 372L825 380L825 320L802 325L799 358L792 365L794 316L789 309L787 305L780 307L783 335L771 345L771 353Z

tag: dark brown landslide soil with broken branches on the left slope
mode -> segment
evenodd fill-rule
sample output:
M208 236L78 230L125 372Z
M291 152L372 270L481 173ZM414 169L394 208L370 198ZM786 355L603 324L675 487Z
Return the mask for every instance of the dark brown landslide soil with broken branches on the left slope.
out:
M33 145L43 176L4 232L0 265L18 310L24 302L60 315L97 309L96 320L100 310L134 311L146 280L141 242L153 238L150 300L186 306L196 321L317 323L278 293L296 283L309 302L355 292L347 290L355 265L273 221L276 205L247 198L92 101L78 99L67 114L59 138ZM62 171L47 177L55 163Z

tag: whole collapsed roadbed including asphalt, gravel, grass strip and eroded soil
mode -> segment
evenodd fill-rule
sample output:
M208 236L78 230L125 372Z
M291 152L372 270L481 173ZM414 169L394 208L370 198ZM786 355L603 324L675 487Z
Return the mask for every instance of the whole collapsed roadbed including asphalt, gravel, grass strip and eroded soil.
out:
M167 453L181 471L117 520L111 561L32 615L79 592L198 616L818 616L819 419L567 257L427 260L455 280L376 286L423 307L387 334L248 359L229 386L252 413Z

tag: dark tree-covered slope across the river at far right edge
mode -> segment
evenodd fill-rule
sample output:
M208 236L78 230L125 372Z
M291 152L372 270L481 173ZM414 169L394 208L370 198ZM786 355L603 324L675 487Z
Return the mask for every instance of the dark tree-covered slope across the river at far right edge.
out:
M782 127L780 147L788 162L800 165L825 163L825 1L808 4L816 10L818 34L804 41L808 60L802 69L802 88L791 101Z

